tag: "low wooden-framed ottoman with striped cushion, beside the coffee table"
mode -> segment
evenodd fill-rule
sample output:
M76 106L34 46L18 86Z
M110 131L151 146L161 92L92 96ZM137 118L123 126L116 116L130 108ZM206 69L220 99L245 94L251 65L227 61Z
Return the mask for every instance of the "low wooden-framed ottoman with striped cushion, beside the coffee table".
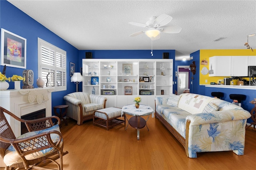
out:
M124 120L117 119L118 117L121 117L121 112L122 108L118 107L108 107L96 110L93 113L93 125L106 127L107 130L121 123L124 123L125 125L125 115L123 115Z

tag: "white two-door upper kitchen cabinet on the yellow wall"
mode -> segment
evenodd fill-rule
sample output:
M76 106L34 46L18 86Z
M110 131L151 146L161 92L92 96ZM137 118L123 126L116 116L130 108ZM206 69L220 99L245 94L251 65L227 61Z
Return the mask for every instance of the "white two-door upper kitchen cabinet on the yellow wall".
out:
M247 75L248 56L213 56L209 58L209 77Z

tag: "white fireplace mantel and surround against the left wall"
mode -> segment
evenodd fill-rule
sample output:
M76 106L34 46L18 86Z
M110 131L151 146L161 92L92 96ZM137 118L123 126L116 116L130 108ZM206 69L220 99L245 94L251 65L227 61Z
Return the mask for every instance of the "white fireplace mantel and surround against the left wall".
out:
M17 117L46 109L46 117L52 116L52 91L54 88L21 89L0 91L0 105ZM47 95L46 95L47 94ZM20 122L6 115L15 136L20 136Z

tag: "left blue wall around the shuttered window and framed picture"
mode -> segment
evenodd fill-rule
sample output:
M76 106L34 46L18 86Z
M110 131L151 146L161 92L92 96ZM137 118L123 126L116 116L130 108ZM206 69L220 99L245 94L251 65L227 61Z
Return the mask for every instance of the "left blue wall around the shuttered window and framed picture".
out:
M64 104L63 96L76 91L76 85L70 82L69 63L78 64L78 49L70 45L62 38L36 22L30 16L7 2L0 0L0 28L4 28L14 34L17 34L27 40L27 59L26 69L34 71L34 87L38 78L38 50L37 38L41 38L67 52L67 91L52 93L52 106ZM3 66L0 66L2 71ZM80 72L79 67L76 67L76 72ZM6 76L22 75L24 69L15 67L6 67ZM14 83L10 82L9 89L14 89Z

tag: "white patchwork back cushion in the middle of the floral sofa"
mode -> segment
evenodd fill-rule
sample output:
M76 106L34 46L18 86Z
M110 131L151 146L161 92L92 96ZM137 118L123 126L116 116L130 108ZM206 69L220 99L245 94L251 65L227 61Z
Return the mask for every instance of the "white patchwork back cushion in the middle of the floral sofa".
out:
M191 114L202 113L204 107L213 99L215 98L192 93L183 93L181 94L178 107Z

